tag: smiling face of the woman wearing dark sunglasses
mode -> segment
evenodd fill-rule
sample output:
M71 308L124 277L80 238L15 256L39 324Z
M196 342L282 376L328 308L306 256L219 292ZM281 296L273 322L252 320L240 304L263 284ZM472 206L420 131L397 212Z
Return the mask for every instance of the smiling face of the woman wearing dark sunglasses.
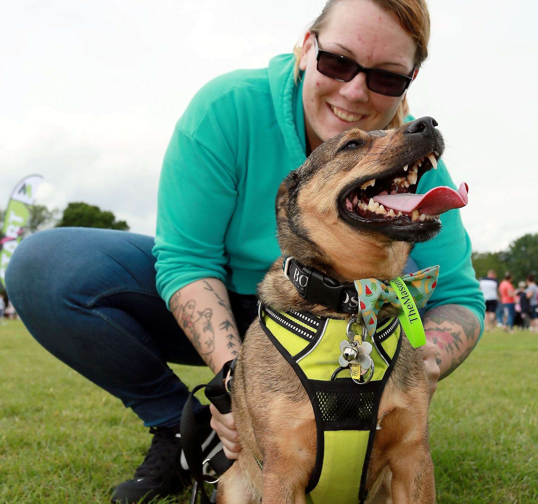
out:
M341 0L334 4L318 34L320 48L341 54L368 68L409 75L416 43L397 15L371 0ZM317 71L314 37L307 33L299 67L303 74L303 107L311 149L350 128L380 130L391 122L404 95L374 93L359 73L341 82Z

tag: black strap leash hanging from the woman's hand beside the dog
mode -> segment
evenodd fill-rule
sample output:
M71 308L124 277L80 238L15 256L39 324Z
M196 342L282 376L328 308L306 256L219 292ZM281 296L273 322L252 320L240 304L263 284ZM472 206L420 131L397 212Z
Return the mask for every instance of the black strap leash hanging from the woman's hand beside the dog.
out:
M193 388L187 402L183 407L181 414L180 432L181 432L181 447L185 459L189 467L190 473L194 478L193 493L190 499L190 504L195 504L200 495L201 504L212 504L216 502L216 488L211 495L211 498L206 493L204 483L216 485L218 478L214 478L210 474L204 473L204 467L209 465L216 474L221 475L226 472L233 460L226 458L224 450L218 451L210 459L202 460L202 446L200 443L200 432L193 411L193 396L197 391L205 388L206 397L215 405L217 410L225 415L231 412L231 378L228 381L229 389L224 387L224 379L235 368L236 359L228 361L222 369L215 375L214 379L209 383L201 384Z

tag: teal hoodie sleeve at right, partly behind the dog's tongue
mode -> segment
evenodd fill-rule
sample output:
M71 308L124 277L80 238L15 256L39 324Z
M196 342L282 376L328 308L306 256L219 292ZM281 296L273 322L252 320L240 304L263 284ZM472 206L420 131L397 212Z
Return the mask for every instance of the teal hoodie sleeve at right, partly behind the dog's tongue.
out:
M442 160L437 170L424 174L417 193L423 194L433 187L448 185L456 188ZM419 269L440 265L437 287L427 309L444 304L466 306L477 316L480 335L484 329L485 303L475 270L471 262L471 240L463 227L459 209L441 215L441 232L433 239L417 243L411 257Z

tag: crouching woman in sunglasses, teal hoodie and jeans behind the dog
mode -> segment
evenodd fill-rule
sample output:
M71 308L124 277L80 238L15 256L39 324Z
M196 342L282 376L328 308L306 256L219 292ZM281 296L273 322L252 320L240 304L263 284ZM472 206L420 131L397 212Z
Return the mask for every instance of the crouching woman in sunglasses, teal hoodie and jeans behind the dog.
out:
M256 284L279 256L280 181L332 135L401 125L406 88L427 56L428 38L422 0L331 0L296 55L223 75L189 104L162 167L156 262L152 239L121 232L58 229L18 247L8 292L34 337L121 398L155 433L134 479L119 485L113 500L181 488L178 423L187 389L166 362L199 364L200 355L217 372L237 355L256 316ZM453 185L440 163L419 191L447 181ZM440 374L476 344L484 316L459 212L445 214L443 225L412 254L417 269L441 264L424 318L431 394ZM58 255L68 262L67 274ZM53 264L38 268L38 257L54 257ZM27 295L36 284L53 290L40 296L54 300L53 310ZM462 333L466 338L452 345ZM226 456L237 457L232 415L212 412ZM207 424L203 408L198 414Z

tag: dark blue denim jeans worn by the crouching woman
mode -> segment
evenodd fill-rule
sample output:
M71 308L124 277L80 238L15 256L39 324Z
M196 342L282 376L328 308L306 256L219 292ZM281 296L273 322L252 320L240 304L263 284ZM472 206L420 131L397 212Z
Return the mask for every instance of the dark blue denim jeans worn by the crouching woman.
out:
M204 365L155 289L153 238L57 228L23 240L6 289L36 340L146 426L178 424L188 389L167 362ZM256 298L229 292L243 337ZM195 404L195 411L200 409Z

